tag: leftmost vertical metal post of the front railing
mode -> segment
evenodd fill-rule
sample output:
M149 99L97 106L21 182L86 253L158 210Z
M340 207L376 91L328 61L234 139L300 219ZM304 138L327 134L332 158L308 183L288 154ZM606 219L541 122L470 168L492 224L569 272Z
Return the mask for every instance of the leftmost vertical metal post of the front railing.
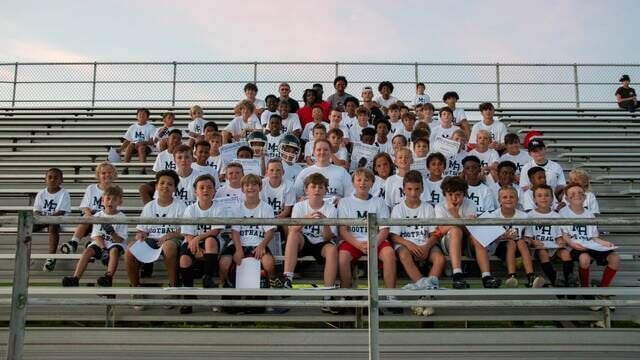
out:
M18 237L13 269L7 360L22 359L24 349L24 327L27 315L32 228L33 214L30 211L20 211L18 213Z

